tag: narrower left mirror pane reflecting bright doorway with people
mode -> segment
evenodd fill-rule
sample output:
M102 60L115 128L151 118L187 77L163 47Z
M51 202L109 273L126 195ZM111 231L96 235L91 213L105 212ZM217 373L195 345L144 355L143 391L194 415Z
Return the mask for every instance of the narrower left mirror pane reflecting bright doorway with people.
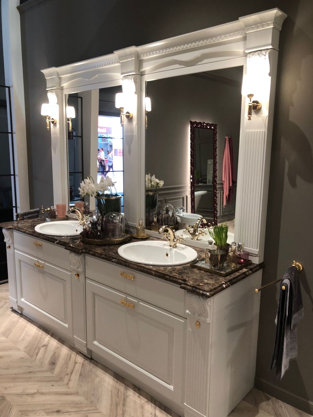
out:
M66 95L66 105L73 107L75 114L71 124L66 122L70 205L94 202L79 193L83 178L91 176L99 182L102 177L110 177L124 211L124 133L120 111L115 107L115 95L121 91L118 85Z

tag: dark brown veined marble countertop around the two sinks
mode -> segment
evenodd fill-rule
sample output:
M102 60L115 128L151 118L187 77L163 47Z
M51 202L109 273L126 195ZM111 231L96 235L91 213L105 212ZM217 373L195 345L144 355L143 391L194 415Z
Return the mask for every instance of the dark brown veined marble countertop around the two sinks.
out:
M166 281L179 284L180 288L207 298L218 294L220 291L236 284L236 282L245 279L247 276L252 275L254 272L259 271L264 267L263 262L261 264L250 264L245 268L224 277L200 269L191 268L190 264L180 266L149 266L136 264L134 262L126 261L126 259L119 256L117 250L121 245L96 246L82 243L79 236L46 236L35 232L35 226L40 223L43 223L43 219L19 220L1 223L0 227L3 227L4 229L14 229L34 236L37 239L64 246L65 249L77 254L88 254L114 264L140 271L144 274L156 276ZM150 237L149 240L157 239ZM137 241L137 239L131 239L131 241ZM198 252L198 259L204 258L203 249L193 249Z

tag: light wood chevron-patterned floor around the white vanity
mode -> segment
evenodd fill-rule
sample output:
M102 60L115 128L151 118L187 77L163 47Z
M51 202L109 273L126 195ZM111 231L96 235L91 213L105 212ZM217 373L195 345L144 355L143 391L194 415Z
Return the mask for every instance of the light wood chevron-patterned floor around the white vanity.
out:
M130 382L11 310L0 285L0 416L177 417ZM257 389L229 417L310 417Z

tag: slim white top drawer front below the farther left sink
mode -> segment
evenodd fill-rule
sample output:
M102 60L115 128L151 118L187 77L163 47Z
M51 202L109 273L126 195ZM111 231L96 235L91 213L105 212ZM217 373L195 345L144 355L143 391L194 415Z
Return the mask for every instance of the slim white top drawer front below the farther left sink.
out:
M14 231L13 236L15 249L70 271L69 253L62 246L18 231Z

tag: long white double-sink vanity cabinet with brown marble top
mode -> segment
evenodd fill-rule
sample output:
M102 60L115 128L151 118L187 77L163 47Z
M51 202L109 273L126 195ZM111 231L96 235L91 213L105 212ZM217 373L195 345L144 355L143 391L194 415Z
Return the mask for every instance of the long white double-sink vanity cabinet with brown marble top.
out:
M40 235L41 221L1 225L13 309L178 414L226 417L254 385L263 264L225 278L134 264L119 245Z

